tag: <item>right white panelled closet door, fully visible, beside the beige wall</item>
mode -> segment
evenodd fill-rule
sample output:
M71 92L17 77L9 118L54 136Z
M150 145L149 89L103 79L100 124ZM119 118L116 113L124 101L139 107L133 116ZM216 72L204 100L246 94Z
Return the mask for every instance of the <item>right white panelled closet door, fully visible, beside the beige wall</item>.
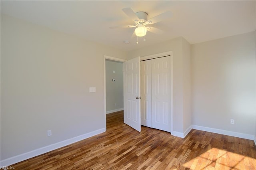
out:
M152 59L152 127L171 132L170 57Z

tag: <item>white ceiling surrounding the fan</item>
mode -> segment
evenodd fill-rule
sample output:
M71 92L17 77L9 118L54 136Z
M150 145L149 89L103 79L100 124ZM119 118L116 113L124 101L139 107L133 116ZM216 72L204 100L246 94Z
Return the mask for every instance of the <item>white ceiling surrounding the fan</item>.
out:
M179 36L193 44L254 31L255 2L1 0L1 13L130 51ZM156 27L164 28L164 34L148 32L136 44L136 36L132 36L135 28L109 28L133 25L122 11L126 7L134 12L147 12L148 18L166 11L171 11L173 16L156 24ZM124 41L130 41L130 44L124 44Z

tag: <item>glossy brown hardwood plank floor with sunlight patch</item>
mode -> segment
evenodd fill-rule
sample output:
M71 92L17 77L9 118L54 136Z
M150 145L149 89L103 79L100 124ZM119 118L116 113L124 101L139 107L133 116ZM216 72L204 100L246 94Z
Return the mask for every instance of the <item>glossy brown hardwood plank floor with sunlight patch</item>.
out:
M107 115L107 131L12 165L16 170L256 169L254 141L200 130L186 138L123 123L123 112Z

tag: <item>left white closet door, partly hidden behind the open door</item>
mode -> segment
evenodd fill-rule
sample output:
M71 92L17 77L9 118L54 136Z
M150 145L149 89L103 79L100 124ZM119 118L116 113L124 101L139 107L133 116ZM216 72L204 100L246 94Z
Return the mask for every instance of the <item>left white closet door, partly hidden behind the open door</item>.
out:
M151 60L140 61L141 125L152 128Z

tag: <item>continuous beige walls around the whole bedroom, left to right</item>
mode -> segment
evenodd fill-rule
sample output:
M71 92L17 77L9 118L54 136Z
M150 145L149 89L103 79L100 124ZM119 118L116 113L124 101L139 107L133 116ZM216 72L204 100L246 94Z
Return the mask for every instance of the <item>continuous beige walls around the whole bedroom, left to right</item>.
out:
M1 15L1 160L105 128L104 55L173 51L173 131L256 136L255 34L194 45L180 37L126 53Z

